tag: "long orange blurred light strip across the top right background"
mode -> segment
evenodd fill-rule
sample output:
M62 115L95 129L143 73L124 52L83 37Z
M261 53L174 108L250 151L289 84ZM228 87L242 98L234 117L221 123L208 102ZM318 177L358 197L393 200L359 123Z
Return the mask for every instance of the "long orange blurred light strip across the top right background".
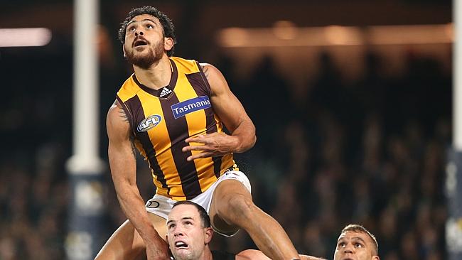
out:
M217 41L225 48L439 44L453 43L453 30L452 23L297 27L278 21L272 28L223 28Z

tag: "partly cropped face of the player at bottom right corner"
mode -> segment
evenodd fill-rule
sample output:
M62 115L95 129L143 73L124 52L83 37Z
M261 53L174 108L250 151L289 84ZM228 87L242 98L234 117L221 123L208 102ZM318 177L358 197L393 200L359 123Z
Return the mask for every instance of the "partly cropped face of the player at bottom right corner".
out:
M348 231L340 234L334 260L378 260L374 254L372 239L362 232Z

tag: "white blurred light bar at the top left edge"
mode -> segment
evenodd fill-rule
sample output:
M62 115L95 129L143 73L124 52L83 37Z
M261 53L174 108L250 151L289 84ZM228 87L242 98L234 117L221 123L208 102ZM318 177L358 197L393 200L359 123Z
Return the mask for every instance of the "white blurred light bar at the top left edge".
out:
M50 43L48 28L0 28L0 47L32 47Z

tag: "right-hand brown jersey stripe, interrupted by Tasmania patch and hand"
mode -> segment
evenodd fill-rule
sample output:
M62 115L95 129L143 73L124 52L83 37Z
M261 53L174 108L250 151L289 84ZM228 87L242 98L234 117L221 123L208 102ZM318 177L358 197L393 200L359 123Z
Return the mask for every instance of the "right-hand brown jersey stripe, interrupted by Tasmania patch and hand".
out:
M200 75L200 72L188 74L186 75L186 78L190 82L190 85L193 86L193 90L195 91L195 94L198 95L198 97L206 95L210 98L210 92L207 91L207 87L205 85L206 82L204 82L204 77ZM206 108L204 109L204 112L205 112L206 133L207 134L216 133L218 129L217 129L217 122L215 121L215 117L213 116L214 115L213 108L212 107ZM213 156L212 157L213 173L215 173L215 176L217 178L220 177L222 157L223 156Z

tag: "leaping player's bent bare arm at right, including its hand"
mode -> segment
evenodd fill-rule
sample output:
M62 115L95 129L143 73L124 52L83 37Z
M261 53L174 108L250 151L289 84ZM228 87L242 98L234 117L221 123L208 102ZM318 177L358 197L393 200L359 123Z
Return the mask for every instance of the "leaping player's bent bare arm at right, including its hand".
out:
M201 64L201 66L210 85L213 110L222 119L231 135L213 133L186 139L188 143L200 144L186 146L183 151L202 151L188 157L188 161L195 158L247 151L257 141L252 120L245 112L241 102L232 94L220 70L209 64Z

